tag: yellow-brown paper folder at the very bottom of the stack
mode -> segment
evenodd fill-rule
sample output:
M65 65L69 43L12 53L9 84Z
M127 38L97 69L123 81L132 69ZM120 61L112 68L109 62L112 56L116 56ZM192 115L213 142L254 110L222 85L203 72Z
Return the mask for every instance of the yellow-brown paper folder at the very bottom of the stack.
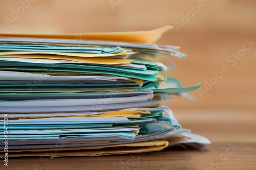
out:
M113 144L95 147L78 147L78 148L54 148L52 149L26 149L26 150L10 150L10 157L20 156L102 156L115 154L142 153L163 150L168 146L168 141L153 140L137 143ZM48 151L54 152L48 152ZM8 154L9 156L9 154Z

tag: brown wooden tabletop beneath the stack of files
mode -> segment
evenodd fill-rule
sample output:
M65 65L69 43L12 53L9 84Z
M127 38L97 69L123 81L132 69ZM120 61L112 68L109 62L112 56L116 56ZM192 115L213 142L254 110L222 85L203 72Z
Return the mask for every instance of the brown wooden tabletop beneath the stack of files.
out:
M139 157L9 158L8 168L2 163L1 169L256 169L255 109L173 110L184 128L212 141L206 150L167 148Z

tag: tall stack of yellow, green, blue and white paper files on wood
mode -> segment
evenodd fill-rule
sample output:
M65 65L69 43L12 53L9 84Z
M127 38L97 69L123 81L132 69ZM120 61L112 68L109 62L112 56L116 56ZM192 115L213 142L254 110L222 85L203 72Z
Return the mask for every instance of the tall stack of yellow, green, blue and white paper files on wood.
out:
M210 141L181 128L163 105L175 95L190 98L202 85L183 87L161 75L164 57L185 57L178 46L156 44L171 28L0 34L1 148L8 141L8 157L100 156L175 145L203 150Z

